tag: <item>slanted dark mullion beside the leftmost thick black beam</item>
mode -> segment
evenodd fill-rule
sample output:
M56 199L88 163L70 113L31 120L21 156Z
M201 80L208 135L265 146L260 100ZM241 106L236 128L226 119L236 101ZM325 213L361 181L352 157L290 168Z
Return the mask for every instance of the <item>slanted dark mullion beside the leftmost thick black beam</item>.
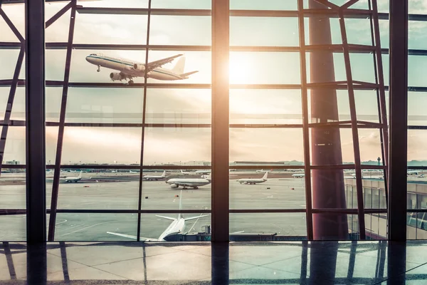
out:
M62 151L63 151L65 113L66 113L66 109L67 109L67 98L68 98L68 87L69 87L68 83L70 81L71 53L73 51L73 38L74 38L74 27L75 27L75 7L77 5L77 0L72 0L72 2L73 2L73 6L71 7L70 26L68 29L67 54L65 56L63 93L62 93L62 99L61 99L61 105L60 105L58 142L56 145L55 172L53 173L53 183L52 183L51 215L49 216L49 230L48 230L48 241L49 242L53 242L53 239L55 239L55 224L56 224L56 209L58 207L60 162L61 162Z

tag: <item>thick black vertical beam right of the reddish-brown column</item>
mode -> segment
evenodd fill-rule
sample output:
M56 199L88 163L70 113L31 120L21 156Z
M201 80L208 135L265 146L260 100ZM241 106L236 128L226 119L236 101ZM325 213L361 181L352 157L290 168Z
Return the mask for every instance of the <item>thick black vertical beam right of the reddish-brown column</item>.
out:
M390 0L389 239L406 240L408 0Z

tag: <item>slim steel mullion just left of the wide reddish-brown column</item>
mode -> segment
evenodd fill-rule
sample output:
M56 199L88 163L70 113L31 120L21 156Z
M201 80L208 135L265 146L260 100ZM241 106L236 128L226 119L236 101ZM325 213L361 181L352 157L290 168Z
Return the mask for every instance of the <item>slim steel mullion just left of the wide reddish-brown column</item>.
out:
M298 28L300 31L300 71L301 71L301 100L302 100L302 140L304 143L304 178L305 178L305 207L307 239L313 239L313 215L312 215L312 192L311 192L311 162L310 162L310 136L308 122L308 94L307 94L307 63L305 54L305 25L302 10L304 4L298 0Z

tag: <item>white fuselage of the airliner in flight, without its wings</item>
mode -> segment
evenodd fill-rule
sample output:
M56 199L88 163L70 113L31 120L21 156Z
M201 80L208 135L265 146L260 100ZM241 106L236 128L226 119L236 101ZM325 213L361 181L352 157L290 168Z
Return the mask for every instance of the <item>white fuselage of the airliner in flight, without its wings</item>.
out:
M130 76L133 76L133 77L144 77L145 75L144 65L142 63L128 61L123 58L112 58L110 56L103 56L103 55L87 56L86 61L94 64L95 66L110 68L115 71L120 71L122 73L129 74ZM135 69L134 68L135 65L139 66L139 68ZM149 78L154 78L161 81L175 81L175 80L186 79L184 77L179 76L178 74L175 74L173 71L167 68L161 68L161 67L154 68L152 71L149 71L149 73L147 73L147 76Z

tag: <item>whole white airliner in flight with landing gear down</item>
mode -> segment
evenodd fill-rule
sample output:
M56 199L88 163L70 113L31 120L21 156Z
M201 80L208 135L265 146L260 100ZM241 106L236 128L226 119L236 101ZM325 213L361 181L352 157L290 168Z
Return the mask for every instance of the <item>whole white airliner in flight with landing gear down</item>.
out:
M163 58L159 61L152 61L145 66L145 63L138 63L136 61L129 61L125 58L116 58L113 56L107 56L103 53L91 53L86 56L86 61L97 66L97 72L100 72L100 68L105 67L117 72L110 73L110 79L112 81L129 80L127 83L132 84L134 81L132 78L144 77L147 69L147 78L154 78L161 81L176 81L182 79L188 79L191 74L199 71L191 71L184 73L185 57L179 58L174 68L167 69L162 68L166 63L172 62L175 58L183 56L177 54L176 56L170 56L169 58Z

